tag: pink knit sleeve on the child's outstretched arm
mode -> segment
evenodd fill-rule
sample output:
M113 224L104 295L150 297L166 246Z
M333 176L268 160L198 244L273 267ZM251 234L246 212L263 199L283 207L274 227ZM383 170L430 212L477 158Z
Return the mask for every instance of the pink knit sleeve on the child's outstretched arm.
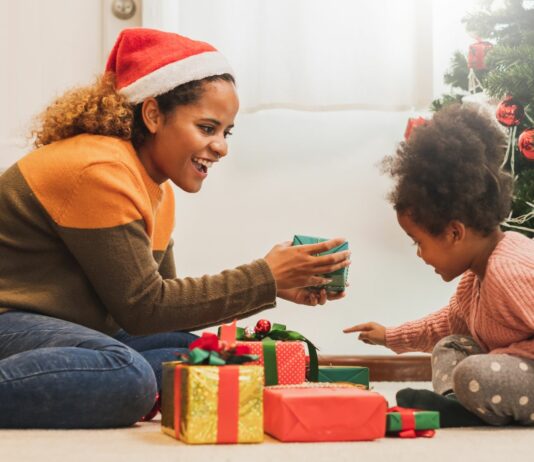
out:
M461 283L459 285L460 290ZM396 353L422 351L430 353L443 337L453 333L467 334L469 330L458 305L458 292L441 310L416 321L386 329L386 346Z

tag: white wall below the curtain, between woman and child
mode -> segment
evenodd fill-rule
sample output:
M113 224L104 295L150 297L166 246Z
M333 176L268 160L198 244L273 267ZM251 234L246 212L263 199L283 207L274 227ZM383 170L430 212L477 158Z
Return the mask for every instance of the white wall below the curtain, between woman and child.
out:
M281 300L269 318L309 336L329 354L386 354L343 327L396 325L441 308L443 283L386 202L389 180L377 164L393 152L408 113L265 111L238 117L230 154L210 170L199 194L176 191L176 260L200 276L265 255L293 234L345 237L352 249L345 299L324 307Z

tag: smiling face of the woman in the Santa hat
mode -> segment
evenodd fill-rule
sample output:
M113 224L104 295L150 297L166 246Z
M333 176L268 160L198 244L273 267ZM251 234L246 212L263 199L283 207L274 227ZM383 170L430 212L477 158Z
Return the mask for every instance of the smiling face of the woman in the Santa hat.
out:
M198 192L211 166L228 153L226 138L239 109L234 84L207 82L197 102L167 115L153 103L147 111L153 136L140 149L141 162L157 183L170 179L186 192Z

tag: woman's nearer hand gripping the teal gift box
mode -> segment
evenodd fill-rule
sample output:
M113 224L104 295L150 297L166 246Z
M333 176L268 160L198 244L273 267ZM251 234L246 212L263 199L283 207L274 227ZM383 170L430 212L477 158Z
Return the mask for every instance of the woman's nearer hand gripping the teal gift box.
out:
M350 265L350 251L317 256L343 244L345 239L331 239L318 244L295 245L284 242L275 245L265 256L276 281L277 289L321 286L330 282L319 276Z

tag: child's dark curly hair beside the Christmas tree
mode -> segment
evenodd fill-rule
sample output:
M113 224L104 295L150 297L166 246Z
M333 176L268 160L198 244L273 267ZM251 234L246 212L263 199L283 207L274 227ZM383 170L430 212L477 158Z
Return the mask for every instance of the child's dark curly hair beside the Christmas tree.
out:
M383 160L383 170L396 180L388 199L433 235L452 220L488 235L511 207L512 178L500 168L505 147L491 119L450 105Z

